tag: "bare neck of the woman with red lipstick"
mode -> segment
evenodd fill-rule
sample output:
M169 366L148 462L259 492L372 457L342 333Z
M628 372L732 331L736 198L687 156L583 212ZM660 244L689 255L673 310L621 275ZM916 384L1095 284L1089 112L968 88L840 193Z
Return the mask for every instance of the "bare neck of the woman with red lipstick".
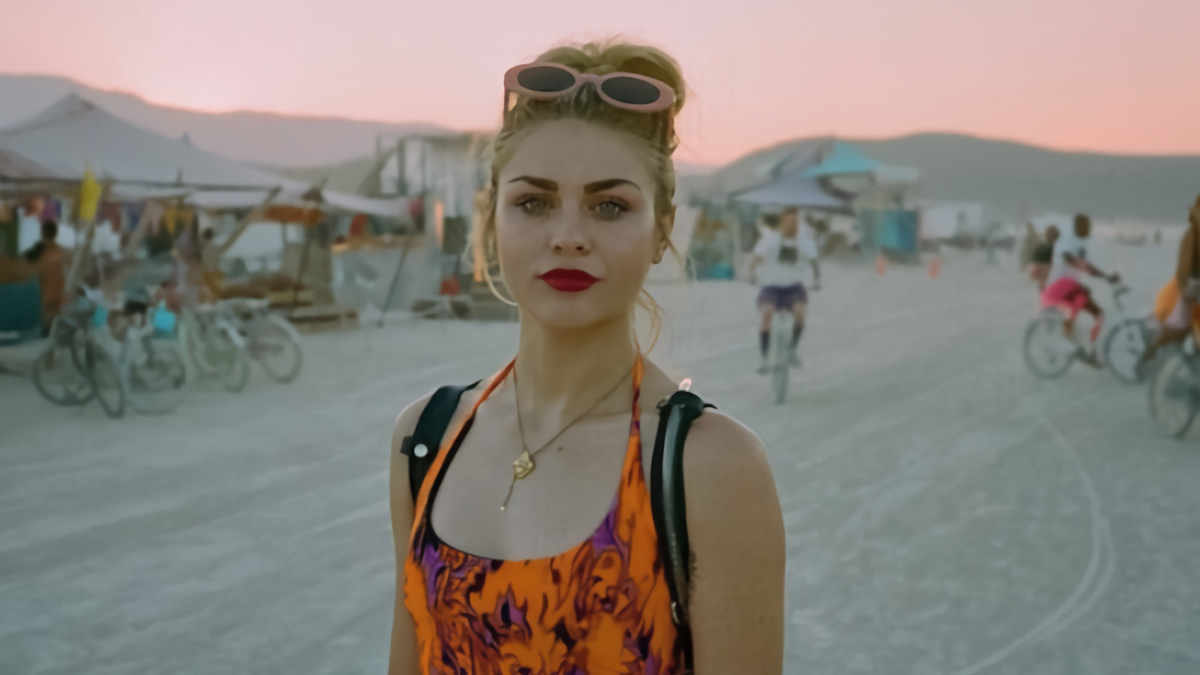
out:
M526 419L553 425L578 414L629 375L636 356L632 316L570 330L522 321L516 377Z

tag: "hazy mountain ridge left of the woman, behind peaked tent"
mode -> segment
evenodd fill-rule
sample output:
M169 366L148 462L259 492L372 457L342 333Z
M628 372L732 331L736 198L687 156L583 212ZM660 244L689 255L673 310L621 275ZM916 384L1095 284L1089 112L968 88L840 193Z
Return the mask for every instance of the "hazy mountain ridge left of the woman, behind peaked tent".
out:
M374 151L376 135L391 137L439 133L433 124L390 124L281 115L275 113L200 113L148 103L132 95L104 91L52 76L0 74L0 129L11 126L77 92L108 112L151 131L180 137L218 155L247 162L310 166L341 162Z

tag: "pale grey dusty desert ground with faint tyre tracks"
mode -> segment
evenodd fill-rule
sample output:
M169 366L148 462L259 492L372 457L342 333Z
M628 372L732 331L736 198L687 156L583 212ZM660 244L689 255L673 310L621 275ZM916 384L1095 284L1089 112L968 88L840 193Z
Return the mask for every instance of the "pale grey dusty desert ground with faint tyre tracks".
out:
M1099 259L1148 307L1172 251ZM828 269L782 407L752 288L655 288L659 360L769 448L786 671L1200 673L1198 432L1156 437L1105 372L1034 380L1033 294L980 261ZM120 422L0 376L0 673L383 673L391 420L514 346L512 324L312 335L289 387L256 374Z

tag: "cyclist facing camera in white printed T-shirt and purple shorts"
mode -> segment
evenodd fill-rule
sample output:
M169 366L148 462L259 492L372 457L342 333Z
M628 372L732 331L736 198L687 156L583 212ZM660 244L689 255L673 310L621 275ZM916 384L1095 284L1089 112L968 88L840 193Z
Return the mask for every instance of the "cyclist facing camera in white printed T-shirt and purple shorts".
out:
M750 282L761 285L757 299L758 311L762 315L758 327L758 346L762 351L760 375L770 370L767 354L770 348L770 319L776 311L788 311L796 317L788 362L793 366L800 365L796 350L804 333L804 316L809 303L802 263L812 267L812 289L821 289L817 245L812 237L800 232L799 209L790 207L778 220L763 220L768 229L755 245L754 259L750 262Z

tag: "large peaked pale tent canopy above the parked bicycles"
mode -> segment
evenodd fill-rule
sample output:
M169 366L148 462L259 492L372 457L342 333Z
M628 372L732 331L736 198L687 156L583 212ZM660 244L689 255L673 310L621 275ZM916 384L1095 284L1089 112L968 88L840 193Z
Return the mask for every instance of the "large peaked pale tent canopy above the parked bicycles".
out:
M232 217L238 225L224 237L222 252L253 222L282 223L293 235L276 240L282 241L281 271L298 275L306 288L328 291L331 275L323 270L330 264L323 258L329 257L338 223L349 228L354 219L370 216L396 223L397 233L414 234L420 221L413 217L413 199L326 190L252 168L197 148L186 136L168 138L132 125L74 94L0 130L0 193L53 196L64 204L61 220L74 220L68 214L89 171L103 183L106 204L163 203L194 216L200 228ZM95 228L64 239L76 238L85 241L83 250L95 247Z

